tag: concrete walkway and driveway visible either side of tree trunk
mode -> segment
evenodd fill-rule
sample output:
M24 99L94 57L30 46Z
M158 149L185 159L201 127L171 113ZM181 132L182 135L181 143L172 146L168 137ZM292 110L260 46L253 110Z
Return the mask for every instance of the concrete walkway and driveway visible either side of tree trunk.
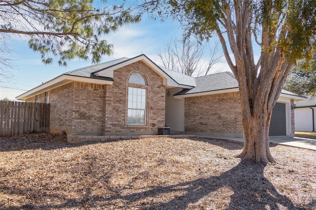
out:
M228 139L231 141L243 142L243 138L230 138L230 137L223 137L223 136L199 136L199 137L212 138L212 139ZM279 145L306 148L306 149L316 151L316 139L307 139L307 138L291 137L291 136L270 136L269 142L273 142Z

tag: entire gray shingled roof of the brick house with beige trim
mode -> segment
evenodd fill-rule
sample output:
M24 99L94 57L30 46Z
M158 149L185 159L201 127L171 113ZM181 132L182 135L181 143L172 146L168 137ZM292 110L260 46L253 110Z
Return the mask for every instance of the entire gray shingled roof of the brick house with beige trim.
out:
M70 80L77 80L81 81L84 80L85 82L94 82L98 83L97 80L100 80L100 84L112 84L114 81L113 71L116 68L119 68L124 65L128 65L134 61L143 60L149 66L151 66L158 74L162 75L166 81L165 85L170 87L180 87L183 88L182 91L174 94L178 97L191 97L190 94L213 94L216 90L221 92L223 91L238 91L238 82L235 76L230 72L222 72L217 74L211 74L202 77L191 77L167 68L163 68L155 64L152 60L150 60L145 55L140 55L134 57L132 59L129 58L120 58L116 60L111 60L108 62L98 63L90 66L86 66L83 68L75 69L72 71L68 71L53 80L50 80L32 90L29 90L26 93L18 96L18 99L23 99L29 97L30 95L34 95L40 93L41 91L46 91L51 89L52 87L65 84ZM112 73L111 73L112 71ZM78 78L82 77L82 79ZM97 79L97 80L95 80ZM94 80L94 81L93 81ZM281 93L292 95L301 99L301 96L282 90ZM195 94L195 95L196 95Z

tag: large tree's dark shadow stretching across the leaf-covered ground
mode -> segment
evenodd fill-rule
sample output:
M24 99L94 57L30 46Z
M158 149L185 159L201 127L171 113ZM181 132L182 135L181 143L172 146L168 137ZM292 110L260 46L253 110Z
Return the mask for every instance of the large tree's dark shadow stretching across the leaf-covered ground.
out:
M26 204L21 207L4 208L9 209L163 209L163 210L184 210L184 209L228 209L228 210L253 210L253 209L288 209L288 210L308 210L316 207L316 201L312 201L308 207L295 206L286 196L280 194L274 185L264 177L264 166L255 165L251 162L241 162L229 171L219 176L212 176L205 179L197 179L181 182L167 186L150 186L137 189L138 192L127 193L133 190L131 186L123 188L110 188L111 193L103 196L96 196L90 188L82 188L84 196L77 199L61 198L60 195L43 194L43 198L59 197L59 204L36 205ZM95 178L94 182L102 182L110 177ZM212 193L217 191L220 195L222 188L232 191L228 206L216 206ZM178 196L173 196L181 192ZM157 199L160 195L171 195L164 199ZM224 198L223 198L224 199ZM217 200L218 202L218 200ZM123 209L124 209L123 208Z

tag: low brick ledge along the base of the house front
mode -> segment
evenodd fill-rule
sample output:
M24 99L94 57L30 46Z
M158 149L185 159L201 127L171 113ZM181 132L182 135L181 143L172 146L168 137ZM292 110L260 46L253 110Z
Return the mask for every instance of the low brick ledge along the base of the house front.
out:
M81 142L107 142L117 139L144 139L144 138L159 138L159 137L170 137L170 138L189 138L195 137L195 135L141 135L141 136L83 136L83 135L67 135L67 142L77 144Z

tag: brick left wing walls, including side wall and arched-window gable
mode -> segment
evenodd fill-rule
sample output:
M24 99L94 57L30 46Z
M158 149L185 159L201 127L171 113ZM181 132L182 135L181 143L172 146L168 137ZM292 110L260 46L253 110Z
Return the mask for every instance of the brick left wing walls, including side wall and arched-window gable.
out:
M133 73L144 76L147 86L129 85ZM128 87L147 89L146 125L127 125ZM45 102L45 93L38 95ZM27 102L35 102L35 96ZM155 134L164 126L165 87L163 79L142 61L114 71L113 85L71 82L49 90L50 132L65 130L67 134L126 133ZM152 126L154 125L154 126Z

